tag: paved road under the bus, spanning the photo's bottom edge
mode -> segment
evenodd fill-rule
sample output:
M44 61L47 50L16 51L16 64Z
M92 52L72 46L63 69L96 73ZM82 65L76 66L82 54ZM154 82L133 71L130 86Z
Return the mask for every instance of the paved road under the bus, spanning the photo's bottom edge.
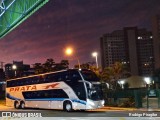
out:
M47 110L47 109L14 109L11 107L6 107L6 106L0 106L0 111L1 112L12 112L12 116L13 113L15 115L15 113L21 113L21 114L27 114L28 113L37 113L37 115L39 114L40 116L45 117L45 119L56 119L58 117L58 119L61 120L68 120L68 119L72 119L72 120L159 120L160 115L159 112L155 112L155 111L139 111L136 109L111 109L108 107L104 107L102 109L97 109L97 110L90 110L90 111L73 111L73 112L65 112L62 110ZM146 117L146 116L141 116L143 114L147 113L148 115L156 115L157 116L153 116L153 117ZM140 117L139 117L140 116ZM23 118L24 119L24 118ZM40 120L41 118L35 118L36 120ZM0 119L1 120L1 119ZM3 118L2 118L3 120ZM57 120L57 119L56 119Z

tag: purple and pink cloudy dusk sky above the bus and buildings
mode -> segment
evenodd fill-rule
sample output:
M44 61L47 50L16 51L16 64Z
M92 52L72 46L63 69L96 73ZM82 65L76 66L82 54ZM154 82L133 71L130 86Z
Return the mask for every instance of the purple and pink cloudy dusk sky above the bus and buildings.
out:
M68 59L70 66L95 61L100 64L100 37L123 27L151 30L152 16L160 14L160 0L50 0L0 40L0 61L24 64ZM74 48L66 56L67 46Z

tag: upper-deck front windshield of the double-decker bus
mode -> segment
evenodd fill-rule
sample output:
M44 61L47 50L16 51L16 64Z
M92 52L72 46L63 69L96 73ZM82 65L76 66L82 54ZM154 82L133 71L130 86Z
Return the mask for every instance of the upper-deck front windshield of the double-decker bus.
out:
M97 77L97 75L90 70L82 70L80 72L81 72L84 80L86 80L86 81L93 81L93 82L100 81L100 79Z

